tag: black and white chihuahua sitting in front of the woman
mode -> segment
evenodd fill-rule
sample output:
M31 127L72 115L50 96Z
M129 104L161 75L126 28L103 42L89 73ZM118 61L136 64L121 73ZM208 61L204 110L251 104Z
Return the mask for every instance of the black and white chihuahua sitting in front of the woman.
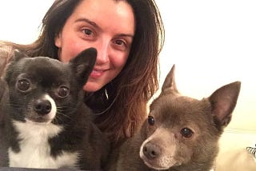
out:
M83 50L69 63L14 52L5 81L10 167L102 169L110 150L83 103L97 50Z

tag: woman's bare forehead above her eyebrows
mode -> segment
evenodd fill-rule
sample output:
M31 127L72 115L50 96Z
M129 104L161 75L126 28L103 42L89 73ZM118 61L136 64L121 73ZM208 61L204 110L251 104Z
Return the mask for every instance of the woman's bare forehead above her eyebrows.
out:
M70 18L86 18L102 29L122 30L134 35L134 11L126 1L86 0L79 3Z

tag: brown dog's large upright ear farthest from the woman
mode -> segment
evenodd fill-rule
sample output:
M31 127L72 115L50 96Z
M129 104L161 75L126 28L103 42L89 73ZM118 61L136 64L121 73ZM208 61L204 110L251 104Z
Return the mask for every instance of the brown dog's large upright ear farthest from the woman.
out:
M217 89L208 98L217 125L223 127L230 123L232 112L238 101L240 87L241 82L232 82Z

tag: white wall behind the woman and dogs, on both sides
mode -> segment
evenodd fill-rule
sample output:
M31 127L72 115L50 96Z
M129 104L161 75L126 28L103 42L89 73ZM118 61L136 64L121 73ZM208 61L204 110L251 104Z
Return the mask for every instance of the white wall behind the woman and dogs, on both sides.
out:
M0 2L0 39L32 42L53 0ZM166 27L160 84L176 64L181 93L207 97L242 82L228 129L256 132L256 2L254 0L156 0Z

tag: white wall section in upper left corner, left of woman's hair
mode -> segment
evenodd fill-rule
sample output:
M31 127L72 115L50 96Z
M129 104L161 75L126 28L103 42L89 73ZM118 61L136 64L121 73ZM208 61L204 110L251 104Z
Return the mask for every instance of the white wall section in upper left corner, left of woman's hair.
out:
M0 40L30 43L38 37L42 18L54 0L2 0Z

